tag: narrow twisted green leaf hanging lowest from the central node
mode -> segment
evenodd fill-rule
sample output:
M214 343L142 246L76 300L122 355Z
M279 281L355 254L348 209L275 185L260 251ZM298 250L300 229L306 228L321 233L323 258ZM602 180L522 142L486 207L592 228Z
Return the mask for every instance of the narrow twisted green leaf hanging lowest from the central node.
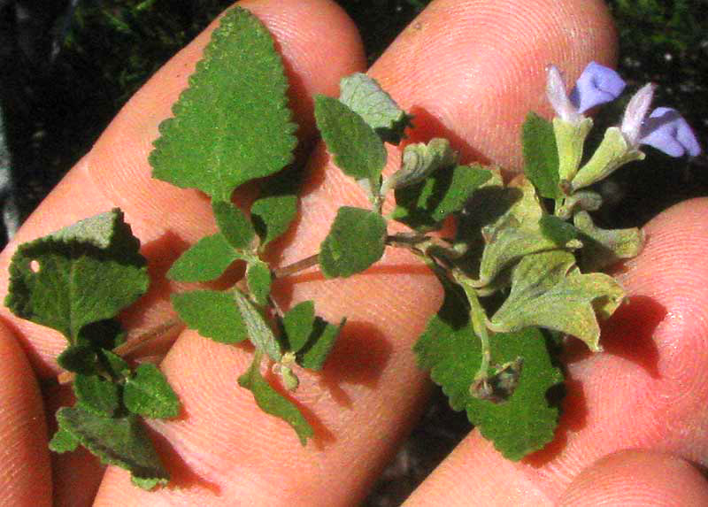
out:
M300 439L300 443L305 445L307 439L314 434L312 426L304 419L303 414L297 410L295 404L290 402L285 396L282 396L263 378L260 374L260 361L261 354L257 352L248 371L239 377L239 385L253 393L256 403L258 403L262 411L280 418L292 426Z

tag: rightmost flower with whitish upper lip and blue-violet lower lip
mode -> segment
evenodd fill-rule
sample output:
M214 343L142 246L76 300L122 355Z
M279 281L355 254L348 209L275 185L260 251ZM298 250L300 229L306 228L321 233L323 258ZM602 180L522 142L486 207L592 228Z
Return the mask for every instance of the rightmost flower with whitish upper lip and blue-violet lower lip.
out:
M620 130L633 149L640 144L661 150L671 157L689 154L696 157L701 147L693 134L689 123L678 111L670 107L649 108L654 96L654 85L647 84L640 88L629 100Z

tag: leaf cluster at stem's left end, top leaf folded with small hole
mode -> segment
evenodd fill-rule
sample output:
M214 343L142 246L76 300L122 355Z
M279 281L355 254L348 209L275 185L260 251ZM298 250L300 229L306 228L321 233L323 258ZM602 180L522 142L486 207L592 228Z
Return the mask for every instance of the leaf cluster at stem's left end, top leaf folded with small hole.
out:
M81 444L104 463L126 468L138 486L152 488L169 478L139 416L172 418L180 403L155 365L133 371L112 352L123 339L115 317L148 288L139 246L119 210L20 245L5 304L68 342L58 364L74 373L76 404L59 409L50 449Z

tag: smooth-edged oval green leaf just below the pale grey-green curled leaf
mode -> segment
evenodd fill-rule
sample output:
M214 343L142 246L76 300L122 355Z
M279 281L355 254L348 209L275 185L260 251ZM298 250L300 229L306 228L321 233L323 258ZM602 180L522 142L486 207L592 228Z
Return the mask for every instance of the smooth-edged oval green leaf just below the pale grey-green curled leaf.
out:
M377 194L387 153L373 128L349 107L328 96L315 96L315 119L337 167L357 181L369 181Z

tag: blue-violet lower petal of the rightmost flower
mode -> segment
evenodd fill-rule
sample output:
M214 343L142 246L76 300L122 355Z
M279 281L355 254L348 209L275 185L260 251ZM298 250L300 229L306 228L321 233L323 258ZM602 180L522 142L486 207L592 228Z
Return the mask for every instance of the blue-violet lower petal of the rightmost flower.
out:
M643 123L639 142L649 144L671 157L681 157L686 153L696 157L701 152L689 123L670 107L658 107L651 111Z

